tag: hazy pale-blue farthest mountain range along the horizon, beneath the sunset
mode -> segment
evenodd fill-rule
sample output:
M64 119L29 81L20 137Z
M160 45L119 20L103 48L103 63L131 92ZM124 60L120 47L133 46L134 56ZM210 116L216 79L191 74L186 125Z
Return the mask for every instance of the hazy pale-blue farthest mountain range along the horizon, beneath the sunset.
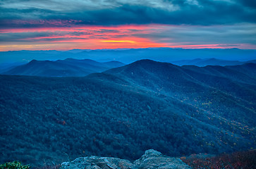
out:
M32 61L56 61L66 58L92 59L94 61L121 61L128 64L141 59L168 62L217 58L227 61L250 61L255 59L255 50L245 49L73 49L71 51L0 51L0 63Z

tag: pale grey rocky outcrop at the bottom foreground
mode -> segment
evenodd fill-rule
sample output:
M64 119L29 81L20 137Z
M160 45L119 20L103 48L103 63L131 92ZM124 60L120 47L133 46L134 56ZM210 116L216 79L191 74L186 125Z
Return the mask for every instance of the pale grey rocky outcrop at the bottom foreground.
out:
M153 149L145 151L138 160L131 163L128 160L113 157L88 156L76 158L71 162L61 164L61 169L150 169L150 168L190 168L179 158L164 156Z

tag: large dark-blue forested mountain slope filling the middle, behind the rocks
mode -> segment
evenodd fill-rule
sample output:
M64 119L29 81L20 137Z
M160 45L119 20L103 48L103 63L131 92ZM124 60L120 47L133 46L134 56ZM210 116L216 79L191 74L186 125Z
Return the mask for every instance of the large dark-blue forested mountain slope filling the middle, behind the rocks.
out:
M147 149L168 156L255 149L255 75L256 63L152 60L86 77L0 75L0 161L39 166L92 155L133 161Z

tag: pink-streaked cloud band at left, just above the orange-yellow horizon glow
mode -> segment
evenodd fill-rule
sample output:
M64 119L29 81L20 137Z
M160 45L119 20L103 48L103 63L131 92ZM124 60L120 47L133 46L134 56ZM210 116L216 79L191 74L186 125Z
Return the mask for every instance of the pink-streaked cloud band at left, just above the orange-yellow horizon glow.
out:
M6 42L60 42L72 39L108 39L130 37L135 33L149 33L154 30L153 26L91 26L91 27L68 27L54 28L23 28L23 30L0 30L0 43Z

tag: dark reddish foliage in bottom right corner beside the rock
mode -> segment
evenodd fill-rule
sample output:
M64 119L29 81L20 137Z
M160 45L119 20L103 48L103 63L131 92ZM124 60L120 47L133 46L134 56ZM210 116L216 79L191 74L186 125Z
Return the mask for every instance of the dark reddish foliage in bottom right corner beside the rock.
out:
M182 157L181 160L192 168L217 168L217 169L246 169L255 168L256 150L235 152L233 154L220 154L213 157Z

